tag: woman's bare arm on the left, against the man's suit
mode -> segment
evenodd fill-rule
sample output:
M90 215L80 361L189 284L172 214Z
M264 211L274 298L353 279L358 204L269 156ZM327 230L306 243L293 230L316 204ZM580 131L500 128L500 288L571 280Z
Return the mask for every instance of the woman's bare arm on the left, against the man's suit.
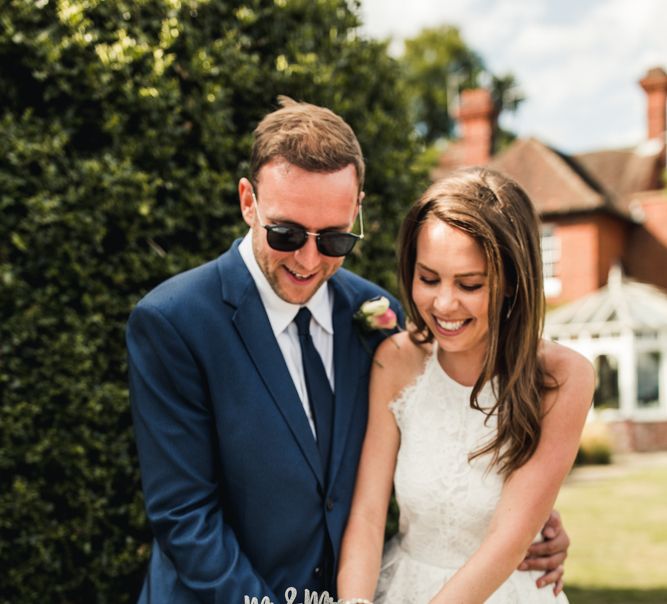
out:
M391 341L390 341L391 340ZM402 332L377 349L370 379L369 415L338 571L338 597L375 593L400 441L389 403L414 377L419 351Z

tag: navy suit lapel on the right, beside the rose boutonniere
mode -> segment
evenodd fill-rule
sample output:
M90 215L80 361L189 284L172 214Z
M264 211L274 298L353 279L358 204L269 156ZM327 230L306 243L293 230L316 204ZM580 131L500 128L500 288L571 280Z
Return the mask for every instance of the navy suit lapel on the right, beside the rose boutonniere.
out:
M359 357L360 345L352 320L356 309L352 308L351 296L337 276L334 276L329 283L334 290L335 410L329 466L329 485L333 485L345 451L357 389L361 386L359 372L363 359Z

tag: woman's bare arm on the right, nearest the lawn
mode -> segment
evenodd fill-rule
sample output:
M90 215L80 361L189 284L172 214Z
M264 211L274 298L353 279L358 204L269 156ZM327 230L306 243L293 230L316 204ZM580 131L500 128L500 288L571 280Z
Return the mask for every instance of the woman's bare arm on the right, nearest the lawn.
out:
M537 449L505 481L484 542L432 604L484 602L516 569L553 507L574 462L595 384L590 363L559 348L559 358L547 368L560 387L545 396ZM568 396L563 395L565 383Z

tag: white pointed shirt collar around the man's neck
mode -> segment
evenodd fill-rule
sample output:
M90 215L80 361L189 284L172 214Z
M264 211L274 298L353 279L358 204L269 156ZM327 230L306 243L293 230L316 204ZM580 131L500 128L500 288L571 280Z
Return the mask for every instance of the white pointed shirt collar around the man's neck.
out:
M248 231L243 241L241 241L239 252L250 272L250 276L257 286L259 297L269 317L273 334L278 336L294 321L294 317L296 317L296 313L299 312L301 306L286 302L273 291L255 258L252 249L252 231ZM330 335L333 334L331 290L327 282L319 287L313 297L308 300L306 308L311 312L315 321L317 321L324 331Z

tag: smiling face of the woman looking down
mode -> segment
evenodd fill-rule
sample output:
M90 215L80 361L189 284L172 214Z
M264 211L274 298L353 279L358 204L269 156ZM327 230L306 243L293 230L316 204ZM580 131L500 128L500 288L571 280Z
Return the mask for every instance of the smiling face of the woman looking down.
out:
M429 218L417 236L412 298L441 351L465 356L481 369L488 345L489 282L479 244Z

